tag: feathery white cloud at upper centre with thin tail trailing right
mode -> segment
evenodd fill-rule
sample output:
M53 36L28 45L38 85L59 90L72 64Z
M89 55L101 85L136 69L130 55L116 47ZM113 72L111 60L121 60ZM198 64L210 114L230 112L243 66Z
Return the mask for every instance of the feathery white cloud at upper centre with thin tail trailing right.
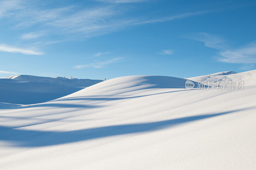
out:
M209 11L184 13L157 19L147 19L144 17L120 18L119 16L122 16L124 12L120 9L116 9L115 6L108 5L105 7L83 9L80 11L77 10L72 15L53 19L52 21L49 21L47 25L53 26L53 29L61 34L76 35L79 33L77 34L78 36L93 37L131 25L172 21L175 19L201 15L207 12Z

